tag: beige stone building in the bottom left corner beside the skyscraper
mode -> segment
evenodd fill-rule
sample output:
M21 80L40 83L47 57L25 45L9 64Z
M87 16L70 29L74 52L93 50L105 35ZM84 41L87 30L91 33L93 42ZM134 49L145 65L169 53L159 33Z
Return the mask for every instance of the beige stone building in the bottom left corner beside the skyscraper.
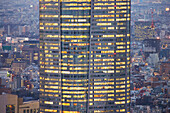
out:
M17 95L2 94L0 95L0 113L38 113L39 102L23 102L23 98Z

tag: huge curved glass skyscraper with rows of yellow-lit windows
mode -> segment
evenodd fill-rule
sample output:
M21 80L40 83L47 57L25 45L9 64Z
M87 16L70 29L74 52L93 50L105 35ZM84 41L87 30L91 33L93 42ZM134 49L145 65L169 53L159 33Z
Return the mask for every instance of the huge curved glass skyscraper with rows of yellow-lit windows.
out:
M40 0L40 113L129 113L130 0Z

